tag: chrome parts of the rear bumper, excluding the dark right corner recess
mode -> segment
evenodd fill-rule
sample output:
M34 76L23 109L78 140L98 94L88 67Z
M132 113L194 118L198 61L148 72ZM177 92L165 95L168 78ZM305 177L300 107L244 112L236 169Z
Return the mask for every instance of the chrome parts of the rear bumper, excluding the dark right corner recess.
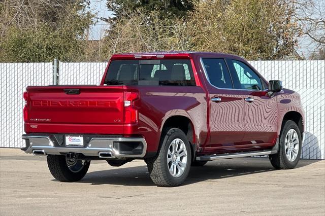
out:
M147 142L139 137L93 137L87 147L58 147L54 146L50 136L46 135L22 135L22 138L29 140L29 146L25 153L34 155L61 155L64 153L81 153L84 156L97 156L100 158L143 158L147 151ZM141 142L143 145L141 154L120 154L114 148L114 142Z

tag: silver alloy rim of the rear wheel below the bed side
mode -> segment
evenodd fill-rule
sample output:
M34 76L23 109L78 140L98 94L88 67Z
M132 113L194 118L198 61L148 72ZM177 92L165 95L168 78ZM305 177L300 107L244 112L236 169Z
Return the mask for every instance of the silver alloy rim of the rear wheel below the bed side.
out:
M169 147L167 153L167 165L169 172L174 177L180 177L186 168L187 163L187 149L183 140L174 139Z

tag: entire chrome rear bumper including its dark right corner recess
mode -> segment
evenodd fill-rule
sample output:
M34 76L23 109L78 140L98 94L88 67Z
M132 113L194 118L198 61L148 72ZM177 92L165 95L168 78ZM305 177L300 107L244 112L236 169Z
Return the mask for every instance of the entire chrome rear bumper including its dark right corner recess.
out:
M64 141L54 134L24 134L22 138L26 140L26 148L22 150L34 155L79 153L107 159L143 158L146 155L147 142L141 137L85 137L89 141L84 147L66 147Z

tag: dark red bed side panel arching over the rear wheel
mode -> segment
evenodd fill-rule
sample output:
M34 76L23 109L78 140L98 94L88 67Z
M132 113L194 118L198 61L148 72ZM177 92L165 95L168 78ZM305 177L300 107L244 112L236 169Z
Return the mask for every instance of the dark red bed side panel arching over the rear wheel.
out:
M124 125L124 134L139 134L148 143L147 152L156 152L166 120L173 116L187 117L193 126L194 142L205 142L207 137L207 102L205 91L199 86L128 86L139 91L135 101L139 120L135 125Z

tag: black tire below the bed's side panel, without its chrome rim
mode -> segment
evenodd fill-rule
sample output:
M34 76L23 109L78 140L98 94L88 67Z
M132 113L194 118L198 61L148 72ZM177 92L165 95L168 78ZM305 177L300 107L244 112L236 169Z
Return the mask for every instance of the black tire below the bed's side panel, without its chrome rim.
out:
M186 165L183 173L179 177L174 177L169 171L169 165L167 163L167 155L170 144L174 139L181 139L184 142L186 149ZM148 165L148 171L152 182L160 187L176 187L181 185L190 169L191 164L191 149L189 142L186 138L184 132L178 128L170 128L164 130L160 138L160 144L158 153L153 158L146 159L146 163Z

